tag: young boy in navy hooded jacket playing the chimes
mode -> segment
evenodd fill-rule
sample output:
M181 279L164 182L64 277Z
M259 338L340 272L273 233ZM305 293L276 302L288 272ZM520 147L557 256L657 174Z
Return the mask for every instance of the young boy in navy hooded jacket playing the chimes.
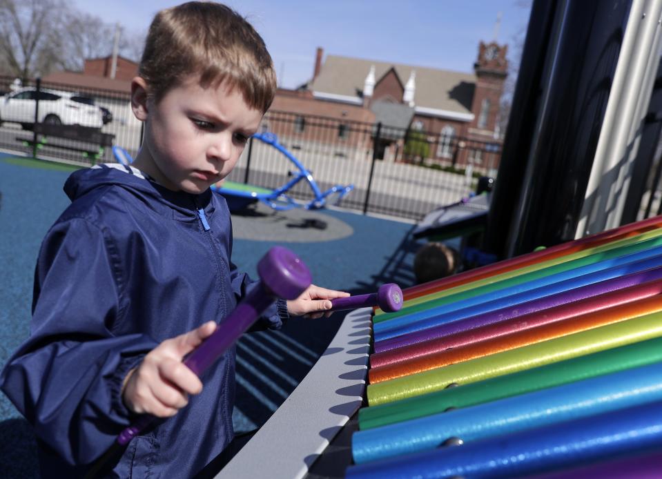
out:
M39 254L32 334L0 378L35 427L44 477L80 476L137 414L166 418L187 403L130 442L113 477L191 477L233 438L233 349L204 389L181 361L251 287L209 186L271 104L271 57L229 8L185 3L155 17L131 90L145 122L135 168L68 179L72 204ZM345 295L311 286L263 322L320 316Z

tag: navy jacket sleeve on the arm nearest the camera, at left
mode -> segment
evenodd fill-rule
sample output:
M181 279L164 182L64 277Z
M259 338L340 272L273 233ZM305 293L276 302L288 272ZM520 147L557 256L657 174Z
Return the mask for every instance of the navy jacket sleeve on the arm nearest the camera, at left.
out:
M30 338L0 375L0 388L38 438L71 465L99 457L129 424L121 382L157 342L116 335L122 298L117 248L84 219L56 224L35 272Z

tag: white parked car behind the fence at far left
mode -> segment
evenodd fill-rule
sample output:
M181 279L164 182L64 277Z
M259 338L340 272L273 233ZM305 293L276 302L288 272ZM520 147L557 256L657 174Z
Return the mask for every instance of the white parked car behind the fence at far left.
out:
M41 89L39 91L39 123L52 125L81 125L101 128L103 114L98 106L72 100L72 92ZM35 123L36 88L20 88L0 97L0 124L19 123L31 129Z

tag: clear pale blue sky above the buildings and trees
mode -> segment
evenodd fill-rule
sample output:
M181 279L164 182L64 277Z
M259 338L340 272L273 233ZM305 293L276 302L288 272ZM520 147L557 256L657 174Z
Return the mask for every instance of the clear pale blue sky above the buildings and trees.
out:
M146 32L171 0L75 0L80 9ZM262 35L283 88L311 79L318 47L340 55L473 72L480 41L523 41L526 0L228 0ZM500 26L496 28L500 14ZM512 47L509 60L512 61Z

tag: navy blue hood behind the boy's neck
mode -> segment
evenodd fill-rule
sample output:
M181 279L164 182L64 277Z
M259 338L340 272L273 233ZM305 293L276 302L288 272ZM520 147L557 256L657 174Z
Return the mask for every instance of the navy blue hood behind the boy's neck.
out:
M184 191L172 191L168 188L118 168L83 168L70 175L64 184L64 193L73 202L100 188L123 188L131 195L143 199L162 213L173 210L190 218L197 215L199 208L205 213L213 213L215 202L211 189L199 195ZM218 195L214 195L218 196Z

